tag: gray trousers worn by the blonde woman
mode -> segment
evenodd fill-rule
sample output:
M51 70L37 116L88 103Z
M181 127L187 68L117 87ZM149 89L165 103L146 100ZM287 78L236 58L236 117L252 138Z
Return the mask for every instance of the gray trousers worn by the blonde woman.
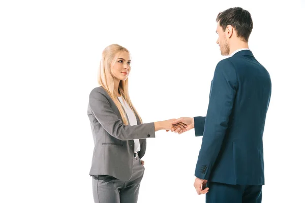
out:
M144 170L140 159L134 158L132 177L128 181L121 181L108 175L92 176L94 202L137 203Z

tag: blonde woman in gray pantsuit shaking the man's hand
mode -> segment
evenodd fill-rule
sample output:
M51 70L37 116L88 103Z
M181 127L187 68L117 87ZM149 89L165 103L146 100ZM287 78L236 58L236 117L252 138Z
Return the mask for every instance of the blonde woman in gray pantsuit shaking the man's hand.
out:
M170 130L175 119L142 123L128 94L129 51L117 44L105 48L100 87L89 95L88 117L95 143L90 175L95 202L135 203L144 174L146 138Z

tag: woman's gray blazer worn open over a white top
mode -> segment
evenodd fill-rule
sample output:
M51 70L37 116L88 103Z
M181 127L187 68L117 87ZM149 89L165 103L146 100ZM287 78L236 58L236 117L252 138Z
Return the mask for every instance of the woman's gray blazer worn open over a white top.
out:
M94 151L89 175L109 175L127 181L132 176L134 141L140 139L142 158L146 150L146 138L155 138L154 123L125 125L113 100L103 87L94 88L89 95L87 111Z

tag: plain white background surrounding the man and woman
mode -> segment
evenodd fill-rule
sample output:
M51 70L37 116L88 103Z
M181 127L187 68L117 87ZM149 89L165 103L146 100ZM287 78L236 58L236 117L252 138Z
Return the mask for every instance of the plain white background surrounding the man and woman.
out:
M209 5L208 5L209 4ZM224 57L216 16L251 12L249 45L269 71L263 202L303 202L304 1L2 1L0 202L93 202L86 115L103 49L130 50L130 95L144 122L205 116ZM147 140L142 202L205 202L193 187L194 130Z

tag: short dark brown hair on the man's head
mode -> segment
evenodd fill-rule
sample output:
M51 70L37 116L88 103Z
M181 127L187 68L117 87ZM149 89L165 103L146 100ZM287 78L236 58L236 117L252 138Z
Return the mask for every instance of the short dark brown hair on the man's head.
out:
M236 30L237 37L248 42L253 28L253 22L249 11L240 7L230 8L217 15L216 22L218 21L223 28L223 31L226 30L228 25L231 25Z

